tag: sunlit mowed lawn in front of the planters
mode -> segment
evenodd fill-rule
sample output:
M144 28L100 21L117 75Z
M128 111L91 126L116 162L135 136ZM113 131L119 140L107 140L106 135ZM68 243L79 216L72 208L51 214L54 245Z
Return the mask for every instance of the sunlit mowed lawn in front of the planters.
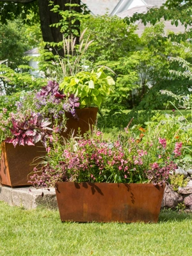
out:
M191 255L192 215L159 223L61 223L58 211L0 202L0 255Z

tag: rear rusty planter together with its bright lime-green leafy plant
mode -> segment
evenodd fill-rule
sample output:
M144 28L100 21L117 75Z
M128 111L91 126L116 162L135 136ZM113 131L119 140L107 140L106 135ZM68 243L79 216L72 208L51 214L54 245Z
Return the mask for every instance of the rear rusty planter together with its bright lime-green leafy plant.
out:
M60 90L64 93L72 93L79 97L80 106L77 109L78 120L68 121L68 127L73 127L77 134L78 127L81 125L81 135L84 132L92 129L95 124L98 108L106 97L113 92L115 81L111 76L106 76L103 68L97 69L97 72L92 70L81 71L73 76L64 77L64 81L60 84ZM68 114L67 114L67 117ZM68 135L65 132L65 136Z

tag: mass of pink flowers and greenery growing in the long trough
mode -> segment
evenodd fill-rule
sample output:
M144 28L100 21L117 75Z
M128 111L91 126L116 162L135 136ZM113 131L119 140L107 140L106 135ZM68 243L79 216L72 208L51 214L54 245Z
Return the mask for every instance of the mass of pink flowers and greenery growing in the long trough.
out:
M165 184L175 172L182 143L167 145L164 138L151 141L120 132L104 139L102 132L53 143L42 170L34 170L29 183L47 188L55 182L125 182ZM40 171L40 172L39 172Z

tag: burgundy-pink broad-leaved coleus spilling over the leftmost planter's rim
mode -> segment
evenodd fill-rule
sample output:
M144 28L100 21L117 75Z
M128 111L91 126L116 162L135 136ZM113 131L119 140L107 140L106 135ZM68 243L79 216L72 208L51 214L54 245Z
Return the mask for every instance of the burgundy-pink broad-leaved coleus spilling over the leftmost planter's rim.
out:
M14 147L18 145L35 145L42 141L46 147L47 138L52 139L52 128L49 127L51 122L45 120L42 115L33 114L23 122L12 118L13 127L10 128L12 136L6 138L6 143L12 143Z

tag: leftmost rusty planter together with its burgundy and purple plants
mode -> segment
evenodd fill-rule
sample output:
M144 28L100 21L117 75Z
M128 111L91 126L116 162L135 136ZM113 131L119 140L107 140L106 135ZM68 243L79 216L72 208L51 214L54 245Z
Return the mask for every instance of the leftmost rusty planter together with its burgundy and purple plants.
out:
M45 155L53 131L66 129L65 111L76 116L79 98L62 95L58 88L58 83L49 81L39 92L28 92L21 97L16 111L8 114L4 109L1 113L1 184L28 185L33 159ZM58 119L59 116L62 118Z

